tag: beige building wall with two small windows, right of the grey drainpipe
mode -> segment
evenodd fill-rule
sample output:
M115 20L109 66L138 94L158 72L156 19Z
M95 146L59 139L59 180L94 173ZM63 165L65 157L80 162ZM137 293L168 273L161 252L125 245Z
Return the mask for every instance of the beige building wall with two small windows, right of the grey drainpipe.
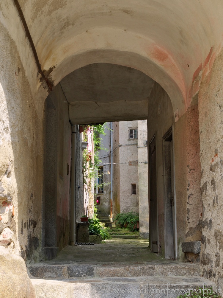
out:
M118 202L120 212L138 213L138 140L129 139L130 128L137 129L137 121L113 122L113 200ZM131 194L131 184L136 184L136 195Z

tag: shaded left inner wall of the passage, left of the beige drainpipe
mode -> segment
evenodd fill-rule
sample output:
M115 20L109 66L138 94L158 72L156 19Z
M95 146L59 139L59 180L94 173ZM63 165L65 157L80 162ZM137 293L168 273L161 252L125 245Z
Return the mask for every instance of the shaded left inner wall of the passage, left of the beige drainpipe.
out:
M45 246L61 250L70 237L71 125L59 84L46 102Z

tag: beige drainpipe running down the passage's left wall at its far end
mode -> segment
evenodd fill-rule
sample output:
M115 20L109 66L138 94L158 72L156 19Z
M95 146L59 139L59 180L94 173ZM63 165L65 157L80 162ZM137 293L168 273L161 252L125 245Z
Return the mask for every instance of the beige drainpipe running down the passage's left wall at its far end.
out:
M75 179L76 179L76 125L72 130L72 157L71 157L71 192L70 192L70 245L74 245L75 239Z

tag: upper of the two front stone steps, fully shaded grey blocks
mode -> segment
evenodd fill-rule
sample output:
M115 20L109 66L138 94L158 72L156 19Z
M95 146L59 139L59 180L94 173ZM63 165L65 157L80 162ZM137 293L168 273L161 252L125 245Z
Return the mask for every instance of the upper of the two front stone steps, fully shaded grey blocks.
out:
M142 276L184 276L200 277L202 266L191 263L134 264L134 265L82 265L82 264L33 264L28 265L28 273L33 278L73 278L73 277L142 277Z

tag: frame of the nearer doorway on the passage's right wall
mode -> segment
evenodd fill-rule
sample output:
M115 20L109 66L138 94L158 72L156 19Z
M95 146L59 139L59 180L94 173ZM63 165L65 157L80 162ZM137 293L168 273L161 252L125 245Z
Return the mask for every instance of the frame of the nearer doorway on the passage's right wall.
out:
M166 227L166 179L165 179L165 156L164 156L164 142L172 134L172 144L173 144L173 184L174 184L174 210L175 216L172 219L174 224L174 238L175 238L175 260L177 260L177 215L176 215L176 181L175 181L175 151L174 151L174 127L173 125L168 129L168 131L163 136L163 177L164 177L164 252L165 258L167 258L167 227Z

